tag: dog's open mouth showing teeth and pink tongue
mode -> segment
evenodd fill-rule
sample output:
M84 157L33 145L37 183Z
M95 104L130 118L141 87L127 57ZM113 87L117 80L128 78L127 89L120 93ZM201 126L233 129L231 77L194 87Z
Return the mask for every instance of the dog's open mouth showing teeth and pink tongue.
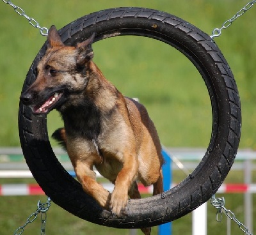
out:
M34 114L47 114L51 111L56 103L60 100L63 93L54 93L54 95L50 96L44 103L40 105L35 105L32 110Z

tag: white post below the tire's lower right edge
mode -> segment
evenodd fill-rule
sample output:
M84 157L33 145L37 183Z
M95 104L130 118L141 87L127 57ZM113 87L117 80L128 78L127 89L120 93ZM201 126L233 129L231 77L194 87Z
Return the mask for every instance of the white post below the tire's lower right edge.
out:
M207 202L196 208L192 213L193 235L207 234Z

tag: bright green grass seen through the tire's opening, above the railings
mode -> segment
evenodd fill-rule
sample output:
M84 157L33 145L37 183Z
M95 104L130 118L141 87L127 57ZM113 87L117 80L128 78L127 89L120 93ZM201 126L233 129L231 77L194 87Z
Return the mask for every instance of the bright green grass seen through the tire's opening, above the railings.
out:
M124 56L120 51L127 44L130 50ZM111 54L116 56L109 59L111 45L115 45ZM138 97L147 107L164 145L207 145L211 136L211 104L204 81L186 57L164 43L131 36L104 40L93 48L95 62L106 78L126 96ZM141 52L136 53L138 48ZM152 57L159 59L147 59ZM56 129L59 116L51 115L49 133Z

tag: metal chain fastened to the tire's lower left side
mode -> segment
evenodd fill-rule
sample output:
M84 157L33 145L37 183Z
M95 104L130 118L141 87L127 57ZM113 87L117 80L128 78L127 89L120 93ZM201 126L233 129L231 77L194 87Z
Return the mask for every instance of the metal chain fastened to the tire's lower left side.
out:
M35 213L32 213L31 215L28 216L26 223L20 226L18 229L16 229L13 235L22 234L25 231L25 227L28 224L31 224L32 222L34 222L34 220L37 218L38 213L41 213L41 235L44 235L45 225L46 225L46 212L48 211L50 206L51 206L51 199L49 197L47 198L47 202L45 203L38 201L37 203L38 209L36 209Z

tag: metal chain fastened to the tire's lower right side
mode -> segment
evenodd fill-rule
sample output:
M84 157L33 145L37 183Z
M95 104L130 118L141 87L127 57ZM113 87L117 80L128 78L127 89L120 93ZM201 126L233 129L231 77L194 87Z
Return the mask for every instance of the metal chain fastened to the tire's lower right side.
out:
M211 202L212 206L214 206L214 208L217 209L217 213L216 213L217 222L221 222L221 220L222 220L222 209L223 209L223 211L225 211L225 215L228 218L230 218L230 220L234 220L234 222L236 222L239 229L241 229L241 231L243 231L244 234L252 235L252 233L249 232L248 228L244 224L239 222L239 220L237 220L236 215L232 211L230 211L230 209L225 208L224 197L216 198L215 195L212 195L210 202Z

